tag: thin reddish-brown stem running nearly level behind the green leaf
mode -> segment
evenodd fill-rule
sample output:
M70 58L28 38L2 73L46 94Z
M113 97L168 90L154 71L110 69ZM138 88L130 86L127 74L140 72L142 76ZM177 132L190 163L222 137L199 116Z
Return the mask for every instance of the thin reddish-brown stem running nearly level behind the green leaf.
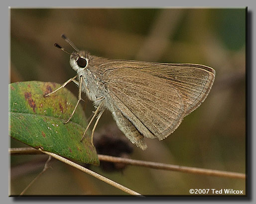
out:
M10 148L10 154L38 154L38 150L28 147L28 148ZM211 170L211 169L202 169L202 168L194 168L194 167L186 167L186 166L178 166L171 164L163 164L157 162L148 162L134 159L127 159L121 157L113 157L108 155L98 155L100 161L108 161L108 162L116 162L116 163L124 163L136 166L143 166L153 169L162 169L168 171L177 171L183 173L190 174L200 174L207 176L218 176L218 177L227 177L227 178L235 178L235 179L245 179L246 175L237 172L228 172L228 171L219 171L219 170Z

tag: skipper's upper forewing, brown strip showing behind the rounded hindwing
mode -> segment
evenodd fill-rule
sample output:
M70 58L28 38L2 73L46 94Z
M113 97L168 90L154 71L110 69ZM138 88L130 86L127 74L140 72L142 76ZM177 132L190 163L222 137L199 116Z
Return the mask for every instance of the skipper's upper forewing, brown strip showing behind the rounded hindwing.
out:
M209 94L215 79L215 70L197 64L147 63L113 61L119 67L132 68L165 79L178 89L183 98L185 115L195 110Z

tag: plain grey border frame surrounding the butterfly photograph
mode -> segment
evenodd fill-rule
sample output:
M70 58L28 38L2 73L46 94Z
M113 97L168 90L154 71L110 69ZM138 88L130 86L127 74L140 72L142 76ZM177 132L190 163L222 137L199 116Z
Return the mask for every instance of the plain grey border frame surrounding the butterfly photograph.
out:
M2 171L1 171L1 200L3 203L9 204L14 202L20 202L20 203L27 203L27 202L43 202L43 203L58 203L58 202L64 202L64 203L71 203L74 201L77 202L207 202L207 201L213 201L213 203L226 203L226 202L254 202L256 201L256 196L253 195L255 193L254 184L256 184L256 177L253 175L253 172L256 172L256 162L255 162L255 154L256 150L254 147L256 147L256 139L254 136L256 135L256 124L255 124L255 116L256 116L256 109L254 108L254 104L256 104L256 82L254 79L256 79L256 71L254 69L254 48L256 46L256 42L253 39L253 36L255 36L255 29L256 29L256 21L255 21L255 6L256 2L253 0L214 0L214 1L205 1L205 0L193 0L193 1L186 1L186 0L150 0L150 1L139 1L139 0L128 0L128 1L118 1L118 0L107 0L107 1L85 1L85 0L73 0L73 1L50 1L50 0L44 0L44 1L33 1L33 0L22 0L22 1L15 1L15 0L9 0L8 2L1 2L1 43L3 46L2 52L1 52L1 62L3 62L2 66L2 78L0 80L1 83L1 94L2 101L1 101L1 129L3 130L2 138L3 141L1 142L2 146L0 148L1 151L1 161L3 162L2 165ZM8 176L6 176L6 170L9 170L9 155L6 150L6 143L9 144L9 138L6 137L8 134L7 130L7 105L8 105L8 92L6 91L7 84L9 83L9 71L8 69L4 67L9 67L9 9L8 6L11 7L169 7L169 6L177 6L177 7L244 7L248 6L248 47L247 47L247 79L248 79L248 103L247 103L247 125L248 125L248 171L249 171L249 186L248 186L248 198L214 198L207 197L197 197L197 198L191 198L191 197L168 197L165 199L162 198L147 198L147 199L133 199L133 198L104 198L104 197L98 197L98 198L8 198L8 189L6 186L8 186ZM8 61L7 61L8 59ZM4 66L5 65L5 66ZM5 77L8 75L8 77ZM7 82L6 82L7 81ZM6 93L7 92L7 93ZM5 95L6 94L6 95ZM6 112L5 112L6 111ZM6 114L5 114L6 113ZM9 146L9 145L8 145Z

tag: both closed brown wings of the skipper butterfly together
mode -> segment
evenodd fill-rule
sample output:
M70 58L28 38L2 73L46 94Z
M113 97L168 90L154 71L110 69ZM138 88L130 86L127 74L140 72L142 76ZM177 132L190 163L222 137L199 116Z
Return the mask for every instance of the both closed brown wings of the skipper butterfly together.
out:
M204 101L215 74L190 64L115 61L112 67L104 75L117 107L142 135L160 140Z

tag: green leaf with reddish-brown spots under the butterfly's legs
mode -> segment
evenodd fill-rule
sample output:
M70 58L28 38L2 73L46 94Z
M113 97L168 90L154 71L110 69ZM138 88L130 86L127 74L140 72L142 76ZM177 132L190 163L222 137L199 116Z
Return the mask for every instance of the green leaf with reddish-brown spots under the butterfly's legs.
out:
M67 124L77 103L69 90L51 82L17 82L9 85L9 135L34 148L68 157L79 162L99 165L91 134L80 142L86 117L79 104Z

